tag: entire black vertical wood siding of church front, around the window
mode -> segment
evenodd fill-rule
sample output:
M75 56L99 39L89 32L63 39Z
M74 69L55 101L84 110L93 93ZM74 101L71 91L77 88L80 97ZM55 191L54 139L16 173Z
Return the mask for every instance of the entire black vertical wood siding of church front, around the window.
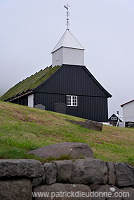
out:
M67 106L67 114L101 122L108 120L110 95L84 66L62 65L35 90L34 104L54 111L55 103L66 103L66 95L78 96L78 106Z

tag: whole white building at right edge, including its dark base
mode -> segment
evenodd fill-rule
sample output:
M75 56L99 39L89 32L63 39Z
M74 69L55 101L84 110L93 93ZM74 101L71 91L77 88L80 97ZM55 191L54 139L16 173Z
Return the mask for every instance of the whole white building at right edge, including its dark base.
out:
M125 122L125 126L133 126L134 125L134 100L122 104L121 107L123 108L123 120Z

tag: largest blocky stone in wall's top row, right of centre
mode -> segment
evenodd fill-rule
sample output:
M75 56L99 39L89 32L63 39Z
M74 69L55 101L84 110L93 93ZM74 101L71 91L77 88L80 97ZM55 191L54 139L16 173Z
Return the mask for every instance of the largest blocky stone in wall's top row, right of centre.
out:
M73 162L72 182L82 184L106 184L108 169L98 159L79 159Z

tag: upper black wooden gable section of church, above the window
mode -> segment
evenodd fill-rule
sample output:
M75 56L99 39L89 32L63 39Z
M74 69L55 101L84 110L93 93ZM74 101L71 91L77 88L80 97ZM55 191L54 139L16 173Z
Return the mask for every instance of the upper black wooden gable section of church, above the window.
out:
M63 65L38 92L107 97L84 66Z

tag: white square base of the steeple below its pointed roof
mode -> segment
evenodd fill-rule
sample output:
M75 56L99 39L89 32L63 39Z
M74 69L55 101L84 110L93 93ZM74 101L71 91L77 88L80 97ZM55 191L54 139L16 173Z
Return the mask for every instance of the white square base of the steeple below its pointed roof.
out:
M52 66L56 65L84 65L84 50L62 47L52 53Z

